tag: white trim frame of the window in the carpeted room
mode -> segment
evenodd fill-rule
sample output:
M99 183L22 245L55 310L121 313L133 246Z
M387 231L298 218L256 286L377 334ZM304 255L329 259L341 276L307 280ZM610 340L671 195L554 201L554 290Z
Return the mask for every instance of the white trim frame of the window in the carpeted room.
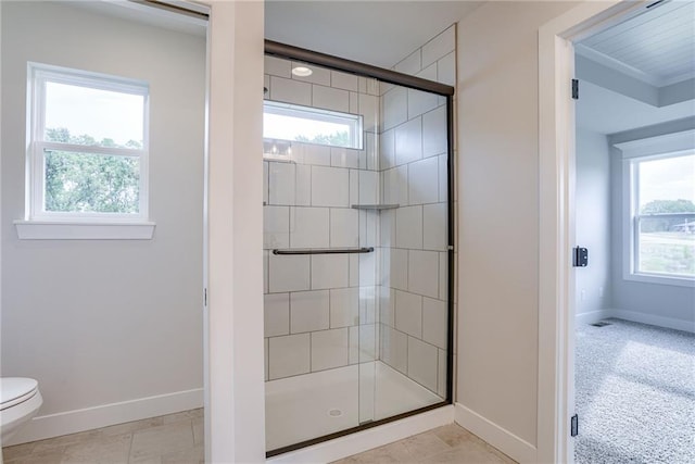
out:
M615 143L622 152L622 277L626 280L648 284L695 287L695 278L678 275L665 275L640 272L639 221L636 166L640 162L677 158L693 154L695 151L695 130L668 134L647 139Z

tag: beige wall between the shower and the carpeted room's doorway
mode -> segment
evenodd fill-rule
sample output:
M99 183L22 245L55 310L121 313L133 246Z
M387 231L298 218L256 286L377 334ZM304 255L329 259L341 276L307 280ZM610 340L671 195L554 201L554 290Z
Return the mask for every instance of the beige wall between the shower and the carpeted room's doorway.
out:
M538 29L573 5L486 2L458 24L457 421L525 455L549 401L538 398Z

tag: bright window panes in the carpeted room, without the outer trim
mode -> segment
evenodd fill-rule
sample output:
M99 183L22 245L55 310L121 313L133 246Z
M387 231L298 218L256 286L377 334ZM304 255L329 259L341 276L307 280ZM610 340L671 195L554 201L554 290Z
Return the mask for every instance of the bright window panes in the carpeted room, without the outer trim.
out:
M695 279L695 151L632 158L631 274Z

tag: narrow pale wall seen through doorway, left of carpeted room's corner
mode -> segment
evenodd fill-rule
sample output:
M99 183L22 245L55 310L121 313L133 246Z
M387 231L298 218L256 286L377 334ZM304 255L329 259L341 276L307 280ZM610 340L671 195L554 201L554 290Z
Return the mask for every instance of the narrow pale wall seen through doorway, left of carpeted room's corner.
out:
M577 128L576 170L577 244L589 249L589 266L576 271L574 312L587 314L610 308L611 301L610 158L605 135Z

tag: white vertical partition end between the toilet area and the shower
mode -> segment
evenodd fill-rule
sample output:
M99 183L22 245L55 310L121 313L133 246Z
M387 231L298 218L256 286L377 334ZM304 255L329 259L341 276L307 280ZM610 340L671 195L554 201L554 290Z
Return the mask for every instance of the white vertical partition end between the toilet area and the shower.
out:
M205 462L265 462L258 162L264 5L197 1L210 8L203 206Z

